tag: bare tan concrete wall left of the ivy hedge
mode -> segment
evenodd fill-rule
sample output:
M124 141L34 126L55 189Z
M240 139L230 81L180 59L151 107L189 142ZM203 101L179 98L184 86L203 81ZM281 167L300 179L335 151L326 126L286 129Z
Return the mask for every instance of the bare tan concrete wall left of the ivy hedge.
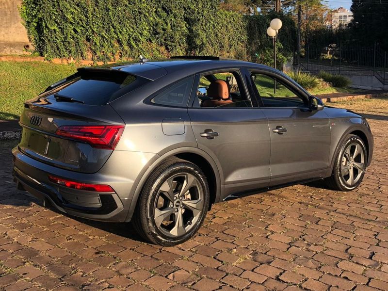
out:
M18 7L21 0L0 0L0 53L25 53L25 45L32 48L26 29L21 24Z

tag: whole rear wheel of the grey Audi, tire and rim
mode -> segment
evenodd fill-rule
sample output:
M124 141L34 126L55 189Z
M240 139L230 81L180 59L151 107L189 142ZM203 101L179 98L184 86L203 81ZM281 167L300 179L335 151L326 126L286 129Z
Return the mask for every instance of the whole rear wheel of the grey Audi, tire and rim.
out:
M177 245L197 232L209 201L209 186L202 170L194 163L169 159L148 178L132 224L149 242Z

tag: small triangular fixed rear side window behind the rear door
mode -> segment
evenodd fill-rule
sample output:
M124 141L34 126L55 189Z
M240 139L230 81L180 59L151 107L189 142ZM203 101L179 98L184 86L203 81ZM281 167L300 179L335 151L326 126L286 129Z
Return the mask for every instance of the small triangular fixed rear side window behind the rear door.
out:
M166 106L187 107L193 81L194 76L183 79L153 97L151 102Z

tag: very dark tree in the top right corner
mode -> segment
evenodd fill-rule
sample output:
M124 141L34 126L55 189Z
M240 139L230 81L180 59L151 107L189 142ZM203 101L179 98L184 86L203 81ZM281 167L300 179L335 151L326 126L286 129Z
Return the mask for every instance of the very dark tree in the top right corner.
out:
M388 0L353 0L350 10L353 20L350 31L358 44L374 42L388 49Z

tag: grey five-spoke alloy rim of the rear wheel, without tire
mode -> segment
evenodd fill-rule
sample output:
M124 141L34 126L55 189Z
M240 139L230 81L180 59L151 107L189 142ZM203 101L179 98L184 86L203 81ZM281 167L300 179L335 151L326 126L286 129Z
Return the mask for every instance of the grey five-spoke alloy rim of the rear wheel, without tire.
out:
M199 220L203 206L203 189L198 179L190 173L176 174L166 179L158 190L155 225L164 235L180 237Z

